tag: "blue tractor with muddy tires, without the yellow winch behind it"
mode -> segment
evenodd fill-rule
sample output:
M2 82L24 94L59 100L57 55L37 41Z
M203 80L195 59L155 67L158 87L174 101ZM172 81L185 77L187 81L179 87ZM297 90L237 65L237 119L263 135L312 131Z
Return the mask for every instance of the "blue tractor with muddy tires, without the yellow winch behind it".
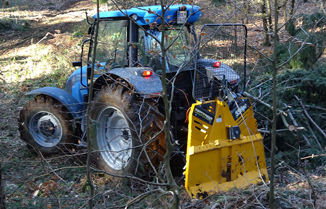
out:
M89 115L94 159L101 169L113 174L148 174L159 165L165 154L160 15L161 6L148 6L93 16L91 38L83 43L80 62L73 63L79 68L68 78L66 91L42 87L28 93L35 97L20 112L19 131L31 150L50 155L88 140L85 118L98 24ZM170 134L180 144L175 158L181 167L185 163L187 111L193 103L229 99L233 112L251 104L233 100L242 82L238 74L246 67L246 27L205 25L197 37L194 23L201 15L200 8L191 5L172 5L165 13L165 41L170 45L165 57L168 95L173 95ZM244 38L239 41L239 37Z

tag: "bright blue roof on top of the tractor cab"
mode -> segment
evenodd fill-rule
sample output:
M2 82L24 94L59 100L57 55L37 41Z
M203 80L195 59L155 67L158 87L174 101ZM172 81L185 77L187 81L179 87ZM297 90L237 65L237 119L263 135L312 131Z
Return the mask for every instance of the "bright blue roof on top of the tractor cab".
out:
M177 22L178 11L180 10L187 12L187 23L194 23L198 20L201 15L200 7L192 5L172 5L169 10L165 13L166 23L175 24ZM139 25L149 25L153 22L161 24L161 20L158 18L162 14L161 6L147 6L131 8L128 10L118 10L118 11L107 11L100 12L100 19L104 18L121 18L126 17L126 15L131 16L133 14L138 15L137 23ZM93 16L97 19L97 15Z

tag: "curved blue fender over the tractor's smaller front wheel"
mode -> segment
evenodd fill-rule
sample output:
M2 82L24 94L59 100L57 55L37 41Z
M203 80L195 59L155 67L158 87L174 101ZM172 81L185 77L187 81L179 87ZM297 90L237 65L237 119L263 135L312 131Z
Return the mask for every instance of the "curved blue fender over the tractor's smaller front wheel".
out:
M34 91L27 93L26 95L34 95L34 94L37 95L43 94L55 98L63 105L65 105L65 107L67 107L68 111L75 119L82 115L81 113L82 113L83 105L80 104L68 92L64 91L61 88L43 87L43 88L35 89Z

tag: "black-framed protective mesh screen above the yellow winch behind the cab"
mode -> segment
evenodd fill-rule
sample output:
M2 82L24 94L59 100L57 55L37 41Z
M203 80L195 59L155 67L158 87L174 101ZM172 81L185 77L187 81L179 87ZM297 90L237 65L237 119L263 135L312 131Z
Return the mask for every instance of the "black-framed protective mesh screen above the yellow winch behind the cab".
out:
M194 98L211 98L216 76L244 89L247 28L243 24L207 24L200 33L200 59L195 73ZM217 63L217 62L220 62ZM220 65L213 67L213 64Z

